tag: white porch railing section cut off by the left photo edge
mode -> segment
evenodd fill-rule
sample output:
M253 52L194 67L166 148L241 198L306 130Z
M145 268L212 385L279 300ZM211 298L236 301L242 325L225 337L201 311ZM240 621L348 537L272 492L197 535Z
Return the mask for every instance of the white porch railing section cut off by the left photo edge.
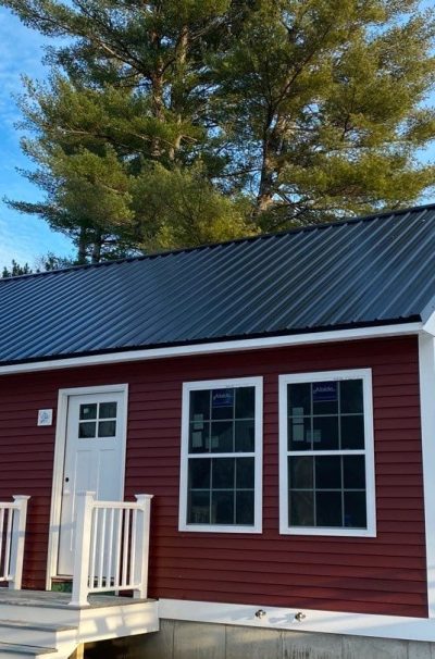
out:
M0 582L8 582L12 590L21 589L29 498L17 495L13 502L0 502Z

